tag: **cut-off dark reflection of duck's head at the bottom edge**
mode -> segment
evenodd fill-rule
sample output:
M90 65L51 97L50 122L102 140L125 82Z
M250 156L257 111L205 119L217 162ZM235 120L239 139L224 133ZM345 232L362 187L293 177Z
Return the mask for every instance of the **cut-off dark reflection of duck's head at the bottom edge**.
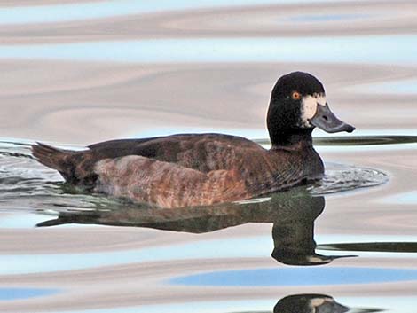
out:
M344 313L349 310L326 294L295 294L279 300L273 313Z

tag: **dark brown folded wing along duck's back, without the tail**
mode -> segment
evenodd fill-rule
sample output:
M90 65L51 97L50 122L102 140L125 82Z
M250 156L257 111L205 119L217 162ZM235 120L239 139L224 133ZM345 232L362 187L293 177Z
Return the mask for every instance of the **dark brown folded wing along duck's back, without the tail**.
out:
M181 164L203 172L230 168L228 162L243 157L245 151L264 149L243 138L224 134L179 134L168 137L112 140L88 146L95 160L140 155Z

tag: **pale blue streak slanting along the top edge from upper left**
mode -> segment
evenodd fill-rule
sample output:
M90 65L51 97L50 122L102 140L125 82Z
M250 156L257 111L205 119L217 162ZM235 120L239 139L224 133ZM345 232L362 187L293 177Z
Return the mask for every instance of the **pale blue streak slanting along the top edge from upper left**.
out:
M0 25L103 19L138 13L180 11L210 7L222 8L250 4L311 4L316 2L318 0L116 0L83 4L20 6L0 9ZM319 2L334 1L320 0ZM338 2L353 2L353 0L339 0Z

